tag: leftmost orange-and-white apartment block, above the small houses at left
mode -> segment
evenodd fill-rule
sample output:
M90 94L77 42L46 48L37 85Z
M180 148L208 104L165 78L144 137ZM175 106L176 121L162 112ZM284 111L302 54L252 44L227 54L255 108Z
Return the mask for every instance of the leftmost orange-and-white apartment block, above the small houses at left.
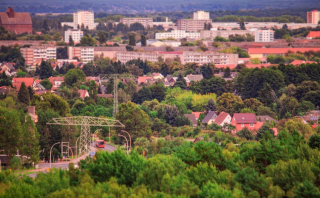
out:
M56 47L31 46L30 48L20 49L26 65L33 65L36 60L57 59Z

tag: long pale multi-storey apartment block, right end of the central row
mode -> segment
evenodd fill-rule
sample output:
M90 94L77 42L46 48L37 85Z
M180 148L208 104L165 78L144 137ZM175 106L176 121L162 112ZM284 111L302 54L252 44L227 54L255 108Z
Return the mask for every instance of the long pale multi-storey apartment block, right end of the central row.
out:
M215 65L230 65L238 64L238 54L223 54L216 52L193 52L184 51L181 58L181 63L198 63Z

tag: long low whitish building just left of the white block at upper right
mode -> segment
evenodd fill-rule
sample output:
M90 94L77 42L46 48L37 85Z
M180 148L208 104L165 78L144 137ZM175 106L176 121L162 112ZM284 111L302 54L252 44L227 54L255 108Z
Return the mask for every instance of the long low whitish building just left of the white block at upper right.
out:
M254 35L255 31L250 30L201 30L200 39L214 39L217 36L221 36L228 39L230 35Z

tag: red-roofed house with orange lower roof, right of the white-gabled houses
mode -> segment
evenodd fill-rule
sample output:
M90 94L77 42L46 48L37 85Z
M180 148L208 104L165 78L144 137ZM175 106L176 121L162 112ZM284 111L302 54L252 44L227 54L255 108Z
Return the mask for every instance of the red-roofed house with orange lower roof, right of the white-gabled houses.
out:
M231 124L235 126L235 132L239 132L244 128L248 128L250 131L258 131L263 122L257 122L254 113L235 113L233 114Z

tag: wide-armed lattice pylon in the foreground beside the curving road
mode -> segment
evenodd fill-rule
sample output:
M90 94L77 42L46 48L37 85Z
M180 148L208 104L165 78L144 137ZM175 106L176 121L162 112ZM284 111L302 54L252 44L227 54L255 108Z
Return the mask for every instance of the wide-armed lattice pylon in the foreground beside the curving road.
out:
M89 152L89 146L91 144L91 126L107 126L107 127L121 127L125 126L119 120L97 118L90 116L74 116L74 117L60 117L53 118L48 125L69 125L69 126L81 126L80 144L79 150L81 152Z

